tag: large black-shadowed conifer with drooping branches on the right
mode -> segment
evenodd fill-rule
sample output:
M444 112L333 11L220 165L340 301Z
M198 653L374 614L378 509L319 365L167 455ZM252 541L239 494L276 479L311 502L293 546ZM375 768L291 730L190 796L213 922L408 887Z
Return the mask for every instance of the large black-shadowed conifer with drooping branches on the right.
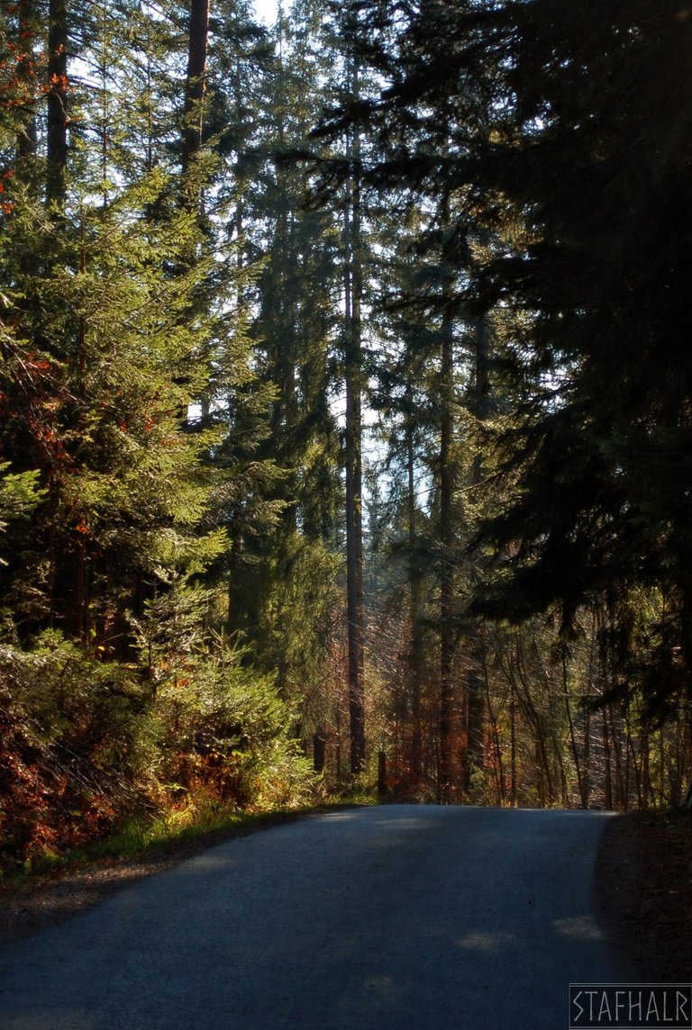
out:
M665 710L689 681L687 508L669 486L686 478L686 230L670 205L684 197L685 160L684 75L673 81L671 69L685 65L689 25L673 3L636 0L579 16L551 0L426 3L398 21L372 3L367 19L387 79L357 112L381 146L367 174L447 187L460 242L469 219L503 241L460 295L471 315L505 313L508 388L525 401L503 436L517 501L487 525L497 579L476 611L521 619L557 604L567 634L582 606L604 606L617 689L638 682ZM666 486L663 469L678 470ZM639 589L669 606L649 626L648 658L627 628Z

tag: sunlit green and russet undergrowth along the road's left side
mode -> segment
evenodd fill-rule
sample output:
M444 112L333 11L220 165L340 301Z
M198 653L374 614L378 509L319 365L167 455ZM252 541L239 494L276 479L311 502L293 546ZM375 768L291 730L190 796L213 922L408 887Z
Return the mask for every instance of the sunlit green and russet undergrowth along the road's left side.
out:
M222 640L144 668L0 637L0 876L315 803L290 707L243 662Z

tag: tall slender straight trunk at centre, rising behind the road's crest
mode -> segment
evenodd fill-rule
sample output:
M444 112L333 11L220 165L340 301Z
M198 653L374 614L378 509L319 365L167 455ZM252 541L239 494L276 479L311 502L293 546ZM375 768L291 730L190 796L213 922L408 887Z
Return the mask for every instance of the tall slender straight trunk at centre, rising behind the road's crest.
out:
M350 58L350 88L358 96L358 66ZM365 759L365 684L363 617L363 470L362 470L362 345L361 345L361 210L357 170L360 138L354 131L349 141L354 170L344 211L344 307L345 307L345 518L347 518L347 618L349 636L349 712L351 719L351 774L362 771Z

